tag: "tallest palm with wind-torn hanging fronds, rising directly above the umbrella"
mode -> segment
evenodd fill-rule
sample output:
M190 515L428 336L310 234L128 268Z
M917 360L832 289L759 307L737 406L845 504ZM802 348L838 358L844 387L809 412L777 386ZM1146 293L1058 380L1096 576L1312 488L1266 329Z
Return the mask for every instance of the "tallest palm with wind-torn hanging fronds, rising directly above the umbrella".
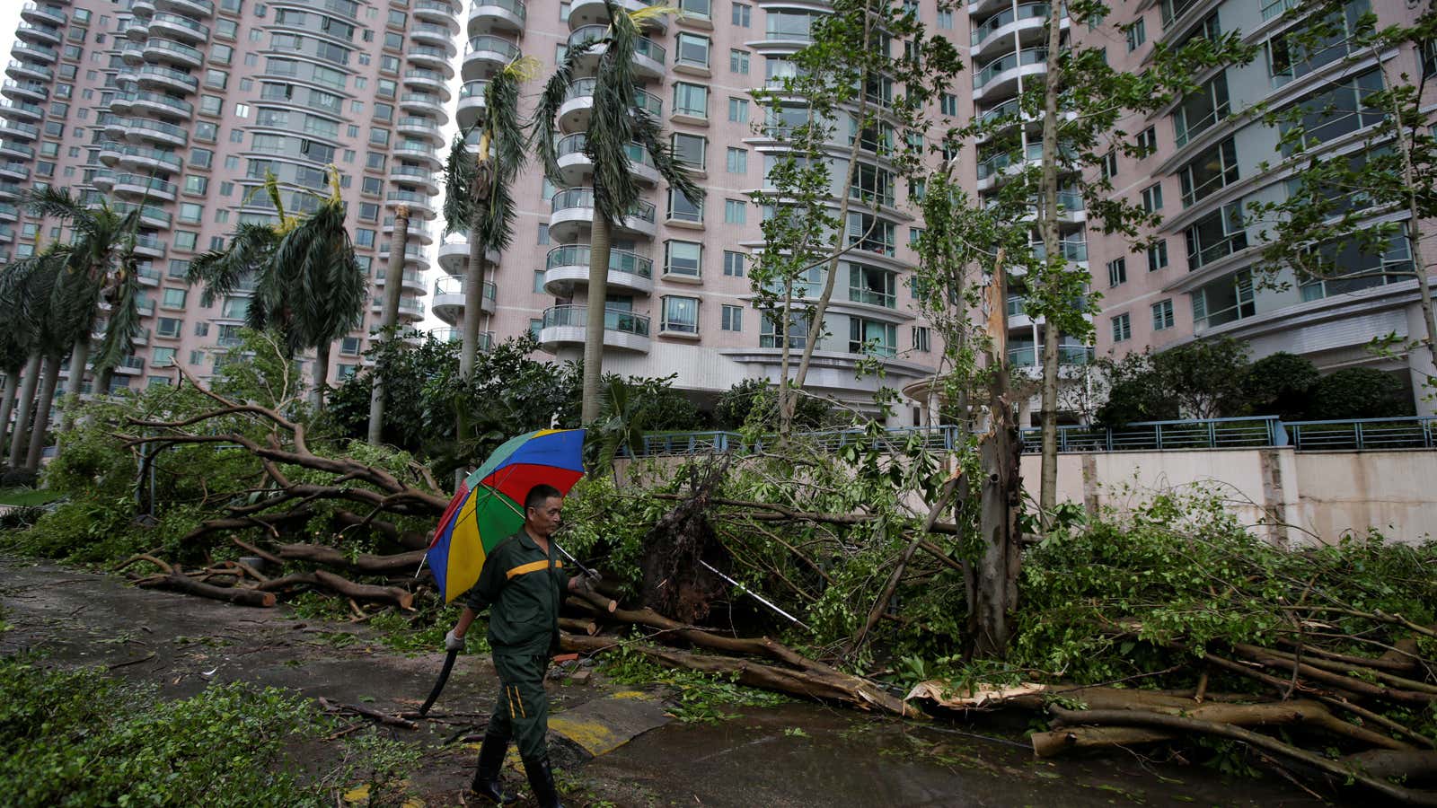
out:
M673 13L668 6L648 6L625 12L605 0L609 27L598 40L570 47L545 85L535 111L532 139L543 160L545 174L559 184L563 175L558 155L558 115L565 101L578 60L604 47L593 79L593 112L583 151L593 164L593 231L589 244L589 311L583 335L583 423L599 417L599 380L604 369L604 303L609 279L611 231L639 201L641 187L629 171L628 145L638 142L654 161L668 185L691 203L703 198L693 177L674 160L664 142L660 122L635 106L638 79L634 75L634 50L641 39L639 26L658 14Z

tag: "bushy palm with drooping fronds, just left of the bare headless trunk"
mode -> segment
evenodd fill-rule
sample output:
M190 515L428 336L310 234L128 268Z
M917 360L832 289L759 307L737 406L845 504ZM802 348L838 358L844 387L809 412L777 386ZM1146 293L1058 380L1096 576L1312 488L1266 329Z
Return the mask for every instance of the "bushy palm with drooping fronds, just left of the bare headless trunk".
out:
M285 213L279 180L266 174L256 191L269 196L276 221L240 224L228 247L195 257L188 275L190 283L204 285L200 300L207 306L254 279L246 325L256 331L279 331L290 357L315 349L315 405L320 408L329 378L329 351L335 339L364 319L369 293L345 229L339 170L329 165L328 171L329 193L309 193L319 206L303 219Z

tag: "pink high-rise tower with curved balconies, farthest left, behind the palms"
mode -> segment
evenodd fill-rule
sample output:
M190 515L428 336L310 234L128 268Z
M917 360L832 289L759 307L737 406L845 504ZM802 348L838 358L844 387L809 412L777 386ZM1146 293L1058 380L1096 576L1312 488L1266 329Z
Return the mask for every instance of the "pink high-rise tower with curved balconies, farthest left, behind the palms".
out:
M331 378L354 372L391 280L398 204L414 217L399 313L424 316L424 223L437 216L460 12L458 0L26 3L0 88L0 249L26 256L69 237L16 206L29 187L142 208L144 332L114 384L165 384L171 364L204 378L237 342L249 299L203 306L190 262L237 224L274 219L256 193L267 174L285 210L302 213L333 164L375 289L364 326L333 351Z

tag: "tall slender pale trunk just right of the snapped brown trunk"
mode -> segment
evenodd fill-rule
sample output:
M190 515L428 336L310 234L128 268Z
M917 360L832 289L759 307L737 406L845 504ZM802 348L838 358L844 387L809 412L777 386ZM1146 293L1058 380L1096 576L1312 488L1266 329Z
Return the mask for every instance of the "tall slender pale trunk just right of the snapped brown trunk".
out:
M1048 262L1043 276L1053 285L1058 282L1052 277L1052 267L1066 260L1058 252L1058 89L1062 81L1058 55L1062 45L1062 24L1059 24L1062 13L1053 9L1048 16L1048 73L1043 76L1043 178L1040 187L1043 201L1039 230ZM1039 476L1038 508L1046 531L1053 508L1058 505L1058 329L1050 316L1043 326L1042 397L1043 466Z

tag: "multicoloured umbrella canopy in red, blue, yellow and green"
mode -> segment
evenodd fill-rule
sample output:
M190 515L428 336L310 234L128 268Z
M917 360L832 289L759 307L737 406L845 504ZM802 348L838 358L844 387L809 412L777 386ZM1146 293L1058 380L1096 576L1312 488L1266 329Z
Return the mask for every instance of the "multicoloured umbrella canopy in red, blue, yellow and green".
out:
M537 485L569 493L583 476L583 430L539 430L509 439L460 483L425 554L444 602L479 581L484 558L525 523Z

